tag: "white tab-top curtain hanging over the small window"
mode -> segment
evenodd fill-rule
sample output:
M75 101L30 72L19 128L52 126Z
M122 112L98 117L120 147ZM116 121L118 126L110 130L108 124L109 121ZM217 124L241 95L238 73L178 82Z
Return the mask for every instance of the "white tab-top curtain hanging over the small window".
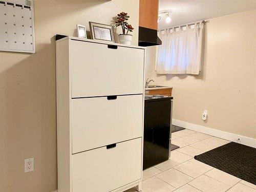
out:
M196 23L158 32L162 45L157 51L157 74L199 74L203 60L203 25Z

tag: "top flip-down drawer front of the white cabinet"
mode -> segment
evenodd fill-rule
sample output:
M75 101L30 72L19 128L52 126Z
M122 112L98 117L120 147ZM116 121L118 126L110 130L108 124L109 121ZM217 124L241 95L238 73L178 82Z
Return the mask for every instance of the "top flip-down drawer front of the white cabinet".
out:
M144 50L70 41L72 98L143 93Z

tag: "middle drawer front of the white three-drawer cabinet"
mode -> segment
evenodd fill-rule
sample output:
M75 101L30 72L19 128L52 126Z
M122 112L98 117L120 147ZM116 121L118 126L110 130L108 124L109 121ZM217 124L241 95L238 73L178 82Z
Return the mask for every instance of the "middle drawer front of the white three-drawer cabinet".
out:
M72 99L72 154L142 137L143 95Z

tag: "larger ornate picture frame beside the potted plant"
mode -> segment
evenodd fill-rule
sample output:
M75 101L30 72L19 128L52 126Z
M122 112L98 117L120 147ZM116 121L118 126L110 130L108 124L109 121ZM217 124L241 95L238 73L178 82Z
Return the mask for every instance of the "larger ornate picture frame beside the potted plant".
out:
M89 22L92 39L115 42L114 26Z

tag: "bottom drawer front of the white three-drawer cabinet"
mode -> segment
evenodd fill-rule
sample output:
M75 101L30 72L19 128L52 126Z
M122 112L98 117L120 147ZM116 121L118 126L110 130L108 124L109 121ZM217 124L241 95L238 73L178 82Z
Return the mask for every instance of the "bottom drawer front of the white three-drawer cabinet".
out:
M141 138L72 155L73 192L107 192L141 179Z

